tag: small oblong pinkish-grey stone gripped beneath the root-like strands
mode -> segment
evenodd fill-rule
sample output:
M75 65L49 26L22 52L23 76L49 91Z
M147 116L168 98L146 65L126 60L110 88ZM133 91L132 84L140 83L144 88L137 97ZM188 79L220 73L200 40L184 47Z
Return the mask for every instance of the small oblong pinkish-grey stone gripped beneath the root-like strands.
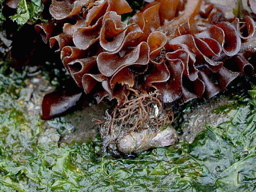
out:
M152 132L145 129L142 132L131 132L122 137L117 143L117 149L121 153L140 153L149 148L165 147L173 145L178 135L172 126Z

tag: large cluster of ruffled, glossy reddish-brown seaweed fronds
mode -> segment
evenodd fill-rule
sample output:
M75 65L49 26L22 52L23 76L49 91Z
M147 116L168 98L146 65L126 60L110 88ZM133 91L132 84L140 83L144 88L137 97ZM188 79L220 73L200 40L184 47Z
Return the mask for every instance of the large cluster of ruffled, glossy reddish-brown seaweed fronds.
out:
M54 26L35 28L97 102L116 99L121 106L131 89L156 89L162 102L183 104L254 73L247 59L256 50L256 27L249 16L230 23L226 7L213 1L147 2L126 24L121 14L132 9L125 0L53 0L50 12L63 31L50 38Z

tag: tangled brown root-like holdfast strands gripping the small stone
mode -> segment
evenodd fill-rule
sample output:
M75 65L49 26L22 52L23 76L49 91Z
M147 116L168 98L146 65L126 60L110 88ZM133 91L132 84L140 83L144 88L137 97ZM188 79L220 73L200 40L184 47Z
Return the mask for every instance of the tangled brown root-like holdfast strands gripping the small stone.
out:
M121 107L116 107L111 115L106 111L105 121L94 120L100 126L103 148L110 149L116 155L116 143L125 135L143 130L156 134L173 121L172 111L163 109L157 91L147 93L130 87L127 89L131 94L126 96Z

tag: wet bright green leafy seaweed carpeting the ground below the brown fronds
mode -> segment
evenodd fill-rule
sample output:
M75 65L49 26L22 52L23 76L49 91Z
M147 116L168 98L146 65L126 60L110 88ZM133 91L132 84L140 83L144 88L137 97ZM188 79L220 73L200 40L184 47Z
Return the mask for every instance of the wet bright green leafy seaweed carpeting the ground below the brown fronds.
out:
M246 93L213 110L228 121L205 125L192 144L114 159L102 155L99 136L58 143L70 122L29 112L26 79L26 68L0 63L1 192L256 190L256 100Z

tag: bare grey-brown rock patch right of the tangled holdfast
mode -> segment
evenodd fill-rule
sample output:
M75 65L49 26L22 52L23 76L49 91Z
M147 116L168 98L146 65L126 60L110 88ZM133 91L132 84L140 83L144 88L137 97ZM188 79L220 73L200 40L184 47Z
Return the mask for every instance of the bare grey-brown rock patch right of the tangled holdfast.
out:
M216 96L185 114L184 124L181 128L183 135L180 136L180 141L186 140L193 143L196 135L205 129L205 124L218 126L220 123L228 121L227 114L212 113L213 109L228 103L228 98L225 96Z

